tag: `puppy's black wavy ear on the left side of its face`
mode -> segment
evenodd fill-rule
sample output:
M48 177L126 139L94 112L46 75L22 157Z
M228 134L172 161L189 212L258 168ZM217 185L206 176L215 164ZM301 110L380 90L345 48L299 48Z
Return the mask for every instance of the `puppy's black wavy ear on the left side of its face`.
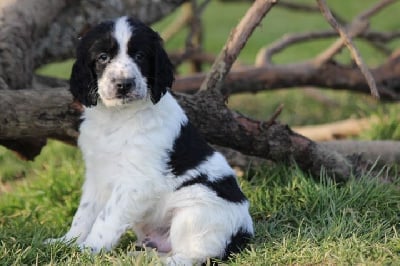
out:
M74 98L86 107L97 104L97 80L90 66L83 59L75 61L69 81Z

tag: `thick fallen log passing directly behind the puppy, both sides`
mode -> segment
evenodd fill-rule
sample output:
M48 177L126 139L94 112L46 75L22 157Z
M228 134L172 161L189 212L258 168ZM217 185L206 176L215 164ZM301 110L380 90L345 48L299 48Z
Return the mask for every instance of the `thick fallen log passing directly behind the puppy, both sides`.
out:
M81 108L72 102L66 87L3 90L0 95L0 144L47 137L76 142ZM352 165L340 154L293 132L287 125L274 122L264 128L258 121L215 101L212 92L176 97L211 143L272 161L295 161L314 175L319 175L322 167L336 180L345 180L351 173ZM30 158L34 151L27 148L19 152Z

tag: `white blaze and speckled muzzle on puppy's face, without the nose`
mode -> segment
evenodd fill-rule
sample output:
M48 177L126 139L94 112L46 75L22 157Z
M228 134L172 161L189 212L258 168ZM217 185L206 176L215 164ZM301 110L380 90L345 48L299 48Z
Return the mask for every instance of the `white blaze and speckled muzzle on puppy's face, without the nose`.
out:
M118 53L111 58L98 80L98 93L106 106L121 105L147 96L147 80L142 76L133 58L128 55L128 42L132 37L133 30L126 17L115 22L113 36L118 43ZM134 79L135 86L132 86L126 97L118 98L115 81L123 79Z

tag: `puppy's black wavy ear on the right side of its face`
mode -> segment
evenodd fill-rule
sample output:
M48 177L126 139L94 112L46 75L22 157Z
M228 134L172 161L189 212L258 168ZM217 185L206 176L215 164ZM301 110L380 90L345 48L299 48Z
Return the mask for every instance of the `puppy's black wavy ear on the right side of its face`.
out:
M154 61L153 84L150 89L151 101L156 104L174 82L173 67L162 46L161 38L155 48Z

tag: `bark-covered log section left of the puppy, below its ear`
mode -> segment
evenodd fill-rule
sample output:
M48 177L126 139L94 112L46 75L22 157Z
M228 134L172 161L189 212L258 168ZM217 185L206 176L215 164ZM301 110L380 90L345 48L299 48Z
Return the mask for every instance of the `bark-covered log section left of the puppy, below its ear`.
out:
M1 139L50 137L74 143L78 136L81 110L67 88L4 90L0 106Z

